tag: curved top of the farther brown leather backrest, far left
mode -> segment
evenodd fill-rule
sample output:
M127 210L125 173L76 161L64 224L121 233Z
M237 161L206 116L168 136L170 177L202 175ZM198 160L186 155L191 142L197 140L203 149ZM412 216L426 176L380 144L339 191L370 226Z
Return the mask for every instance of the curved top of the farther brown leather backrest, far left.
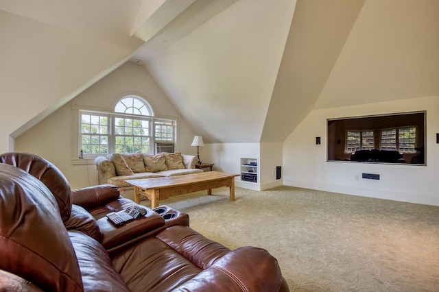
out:
M0 162L19 167L38 178L56 198L62 221L67 221L71 211L70 185L64 174L51 162L34 154L9 152L1 154Z

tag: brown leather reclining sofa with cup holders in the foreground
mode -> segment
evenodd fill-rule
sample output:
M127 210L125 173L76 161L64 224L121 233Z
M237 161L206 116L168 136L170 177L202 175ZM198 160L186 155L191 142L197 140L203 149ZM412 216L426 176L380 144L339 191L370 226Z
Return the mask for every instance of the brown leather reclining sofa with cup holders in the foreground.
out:
M230 251L167 206L116 228L115 186L71 191L50 162L0 155L0 291L289 291L266 250Z

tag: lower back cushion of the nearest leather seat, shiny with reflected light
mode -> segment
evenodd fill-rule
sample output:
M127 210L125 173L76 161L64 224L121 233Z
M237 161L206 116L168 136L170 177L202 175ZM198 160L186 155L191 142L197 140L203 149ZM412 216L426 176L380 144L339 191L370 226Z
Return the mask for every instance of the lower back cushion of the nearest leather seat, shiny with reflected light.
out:
M69 236L78 257L84 291L130 291L101 244L82 232L69 231Z

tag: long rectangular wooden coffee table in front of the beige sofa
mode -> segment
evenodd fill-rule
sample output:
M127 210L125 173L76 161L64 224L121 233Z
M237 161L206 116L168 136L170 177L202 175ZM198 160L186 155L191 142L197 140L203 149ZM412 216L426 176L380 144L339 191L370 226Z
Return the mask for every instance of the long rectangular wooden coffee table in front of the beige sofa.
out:
M207 195L212 195L212 188L220 186L228 186L230 201L235 201L235 176L239 176L239 174L207 171L165 178L126 180L126 182L134 186L134 201L137 204L140 203L140 195L143 195L151 201L151 208L156 208L159 200L204 190L207 190Z

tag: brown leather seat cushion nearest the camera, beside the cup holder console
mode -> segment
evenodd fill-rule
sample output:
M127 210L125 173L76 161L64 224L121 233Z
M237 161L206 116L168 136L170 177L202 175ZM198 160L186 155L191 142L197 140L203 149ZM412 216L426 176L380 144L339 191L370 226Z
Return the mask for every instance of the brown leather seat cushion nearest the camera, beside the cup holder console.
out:
M187 226L171 226L116 255L112 263L132 291L173 291L228 252Z

